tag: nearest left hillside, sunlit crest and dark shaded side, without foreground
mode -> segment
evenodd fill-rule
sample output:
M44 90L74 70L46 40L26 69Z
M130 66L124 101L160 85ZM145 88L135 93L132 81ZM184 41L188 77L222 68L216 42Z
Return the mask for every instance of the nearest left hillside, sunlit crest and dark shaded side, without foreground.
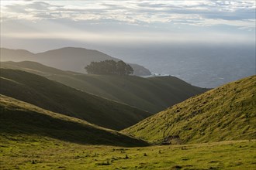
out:
M0 134L56 138L88 145L143 146L146 142L116 131L99 128L74 117L67 117L32 104L0 95Z

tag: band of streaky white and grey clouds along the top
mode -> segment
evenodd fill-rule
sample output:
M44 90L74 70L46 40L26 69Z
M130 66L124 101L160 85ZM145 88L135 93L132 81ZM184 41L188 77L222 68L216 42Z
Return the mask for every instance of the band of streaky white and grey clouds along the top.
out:
M61 5L63 4L63 5ZM4 13L6 12L6 14ZM95 1L95 2L26 2L23 4L6 5L2 15L25 14L26 19L28 12L32 12L33 19L44 19L43 15L37 13L59 12L62 15L58 17L74 17L74 19L84 19L81 16L95 15L97 19L123 19L127 22L124 16L136 18L140 22L156 22L154 18L159 19L159 22L166 22L166 17L171 15L195 15L198 18L208 19L255 19L255 2L254 1ZM150 20L150 16L151 17ZM47 17L48 18L48 15ZM31 19L31 17L27 17ZM122 20L121 20L122 21ZM128 21L129 22L129 21Z

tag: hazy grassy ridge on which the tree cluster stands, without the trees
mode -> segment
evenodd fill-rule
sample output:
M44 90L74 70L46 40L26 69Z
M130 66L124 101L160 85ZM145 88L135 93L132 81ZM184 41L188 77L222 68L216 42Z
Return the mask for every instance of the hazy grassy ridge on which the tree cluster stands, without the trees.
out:
M157 113L207 89L194 87L174 76L87 75L57 70L35 62L2 62L2 68L24 70L67 86Z

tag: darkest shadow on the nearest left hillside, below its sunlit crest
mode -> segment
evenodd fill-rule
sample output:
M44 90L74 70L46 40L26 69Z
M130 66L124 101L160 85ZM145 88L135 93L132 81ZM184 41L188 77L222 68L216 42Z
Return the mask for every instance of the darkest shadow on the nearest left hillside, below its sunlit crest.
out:
M130 138L116 131L106 131L90 124L67 121L46 114L1 108L1 134L36 134L82 145L147 146L146 141Z

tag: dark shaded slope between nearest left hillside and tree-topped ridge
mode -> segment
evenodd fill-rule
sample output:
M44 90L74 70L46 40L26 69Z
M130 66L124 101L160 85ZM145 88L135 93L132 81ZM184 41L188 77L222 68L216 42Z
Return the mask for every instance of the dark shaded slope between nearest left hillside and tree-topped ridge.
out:
M1 69L0 78L0 93L6 96L104 128L120 130L151 115L21 70Z

